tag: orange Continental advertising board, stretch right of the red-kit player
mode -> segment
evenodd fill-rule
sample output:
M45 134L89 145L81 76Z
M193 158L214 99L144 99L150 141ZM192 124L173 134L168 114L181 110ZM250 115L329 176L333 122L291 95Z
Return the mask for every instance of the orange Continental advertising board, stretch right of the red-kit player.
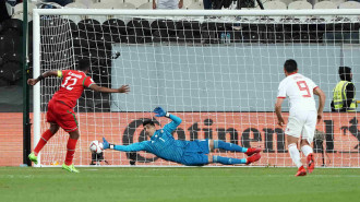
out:
M177 140L213 139L244 147L262 147L264 148L262 158L255 165L293 166L287 150L285 127L277 126L274 112L173 112L173 115L182 119L182 123L173 132ZM284 115L287 120L287 114ZM87 154L87 144L93 140L101 140L101 136L105 136L111 143L128 145L148 140L142 127L144 119L152 118L158 129L170 121L164 117L152 116L153 114L148 112L80 114L82 157L79 153L75 155L77 163L88 164L91 154ZM317 166L360 167L358 121L357 114L324 114L323 120L316 127L313 142ZM245 157L241 153L221 150L215 151L215 154ZM122 153L107 150L104 157L110 165L177 165L145 152Z

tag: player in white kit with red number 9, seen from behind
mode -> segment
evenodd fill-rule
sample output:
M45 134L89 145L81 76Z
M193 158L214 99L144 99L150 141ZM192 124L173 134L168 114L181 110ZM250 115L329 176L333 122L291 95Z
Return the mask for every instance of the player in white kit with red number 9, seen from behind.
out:
M300 147L307 156L308 173L310 174L315 167L313 150L310 144L314 138L316 122L319 123L323 116L325 94L312 80L298 73L298 64L295 60L290 59L285 62L284 72L286 78L279 84L275 112L278 124L283 127L285 121L281 116L281 104L286 97L289 97L290 111L285 134L287 135L290 157L298 167L296 176L305 176L307 170L300 159L298 142L301 136ZM320 97L317 111L314 94Z

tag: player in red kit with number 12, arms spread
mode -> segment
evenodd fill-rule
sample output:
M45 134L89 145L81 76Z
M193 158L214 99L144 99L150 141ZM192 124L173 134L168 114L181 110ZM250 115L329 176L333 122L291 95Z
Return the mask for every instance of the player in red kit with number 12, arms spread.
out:
M48 76L62 78L62 83L58 92L56 92L48 104L48 111L46 114L47 122L50 123L50 128L41 134L39 142L37 143L34 152L28 155L28 158L37 164L37 155L56 134L61 127L67 131L70 136L67 145L67 156L62 164L62 168L71 171L79 173L74 167L72 159L75 153L76 142L80 136L77 120L73 108L76 106L76 102L82 95L85 87L88 87L96 92L101 93L128 93L130 88L128 85L122 85L120 88L101 87L94 83L91 76L86 73L89 71L89 61L81 59L79 61L77 70L58 70L47 71L40 74L37 79L27 80L28 85L35 85L37 82Z

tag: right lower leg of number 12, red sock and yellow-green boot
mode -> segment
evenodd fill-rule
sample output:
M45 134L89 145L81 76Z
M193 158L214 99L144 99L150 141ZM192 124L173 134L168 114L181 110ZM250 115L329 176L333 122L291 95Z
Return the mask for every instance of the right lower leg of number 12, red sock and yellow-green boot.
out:
M75 154L76 142L80 136L79 130L76 129L75 131L69 132L69 135L70 136L67 145L68 152L67 152L65 162L62 164L62 168L71 173L80 173L72 163L72 159Z

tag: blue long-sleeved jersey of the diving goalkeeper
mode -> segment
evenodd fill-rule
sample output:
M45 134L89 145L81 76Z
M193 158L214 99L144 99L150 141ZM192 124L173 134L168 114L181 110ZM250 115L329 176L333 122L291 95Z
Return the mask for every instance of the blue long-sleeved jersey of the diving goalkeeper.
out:
M172 121L157 130L149 141L133 143L130 145L116 145L113 148L123 152L146 151L166 161L180 163L185 146L190 141L175 140L172 131L181 123L181 119L170 115Z

